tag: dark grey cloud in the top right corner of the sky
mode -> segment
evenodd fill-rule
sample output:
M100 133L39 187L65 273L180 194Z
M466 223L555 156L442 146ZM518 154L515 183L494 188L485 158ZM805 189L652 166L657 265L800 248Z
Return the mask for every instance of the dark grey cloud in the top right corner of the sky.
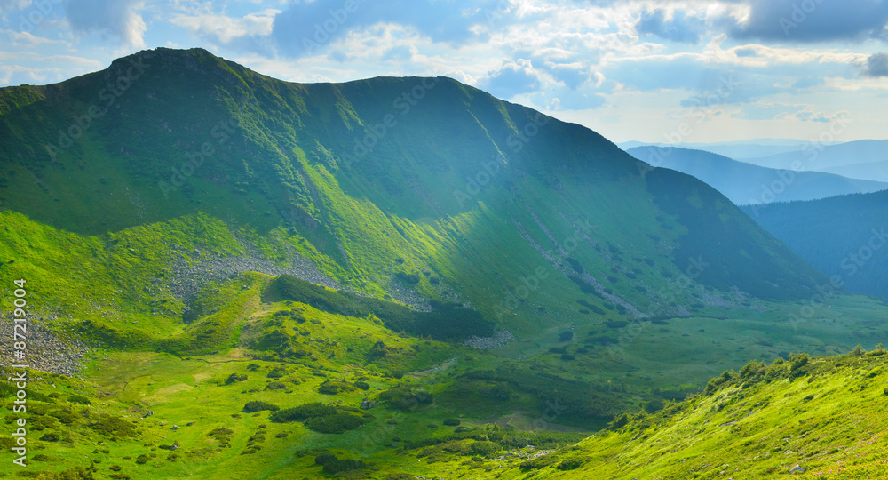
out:
M749 16L734 28L739 39L787 42L863 41L885 37L888 0L749 0Z

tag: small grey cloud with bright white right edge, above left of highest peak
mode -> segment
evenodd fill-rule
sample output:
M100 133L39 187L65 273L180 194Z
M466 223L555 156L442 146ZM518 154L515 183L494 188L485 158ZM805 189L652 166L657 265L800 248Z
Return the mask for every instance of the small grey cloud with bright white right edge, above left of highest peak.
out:
M124 44L145 48L145 20L138 11L145 0L69 0L65 5L68 23L75 32L99 32L115 36Z

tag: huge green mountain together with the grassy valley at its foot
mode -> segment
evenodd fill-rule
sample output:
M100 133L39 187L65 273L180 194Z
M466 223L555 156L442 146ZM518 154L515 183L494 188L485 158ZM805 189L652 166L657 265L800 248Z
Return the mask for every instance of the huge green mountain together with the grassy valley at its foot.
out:
M155 49L0 89L0 146L31 476L478 476L750 358L888 340L702 181L445 77Z

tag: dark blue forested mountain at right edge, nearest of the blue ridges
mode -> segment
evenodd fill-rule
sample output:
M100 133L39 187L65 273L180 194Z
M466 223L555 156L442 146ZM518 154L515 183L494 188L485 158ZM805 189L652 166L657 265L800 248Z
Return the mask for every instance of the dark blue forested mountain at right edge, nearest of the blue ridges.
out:
M742 208L846 289L888 299L888 191Z

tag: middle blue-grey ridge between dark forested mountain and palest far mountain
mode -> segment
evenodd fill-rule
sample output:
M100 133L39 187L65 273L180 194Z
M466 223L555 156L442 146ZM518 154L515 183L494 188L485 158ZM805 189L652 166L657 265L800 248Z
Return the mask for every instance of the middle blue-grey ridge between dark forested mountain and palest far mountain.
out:
M827 196L870 193L888 189L888 183L852 180L822 172L792 172L744 164L702 150L685 148L630 148L641 161L687 173L716 188L734 204L815 200ZM663 153L668 155L663 155Z

